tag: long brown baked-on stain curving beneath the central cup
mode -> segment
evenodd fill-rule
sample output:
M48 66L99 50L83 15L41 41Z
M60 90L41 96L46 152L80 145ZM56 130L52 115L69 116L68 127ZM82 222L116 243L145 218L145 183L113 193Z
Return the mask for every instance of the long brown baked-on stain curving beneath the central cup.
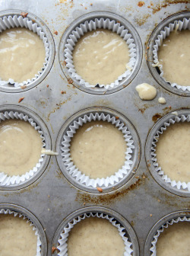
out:
M94 203L94 204L100 204L100 203L110 203L110 200L119 200L122 197L125 197L125 194L127 194L131 190L135 190L138 186L141 184L144 184L145 179L147 176L145 174L142 174L140 178L138 178L137 181L135 181L133 184L131 184L127 188L122 188L122 190L113 192L112 194L84 194L84 192L81 192L78 190L77 196L75 198L75 201L81 201L81 203Z

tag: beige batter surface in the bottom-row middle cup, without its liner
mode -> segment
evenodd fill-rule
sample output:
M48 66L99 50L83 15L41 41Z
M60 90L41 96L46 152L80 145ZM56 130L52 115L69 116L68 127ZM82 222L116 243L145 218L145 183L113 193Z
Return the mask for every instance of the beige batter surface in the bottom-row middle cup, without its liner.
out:
M122 256L125 244L119 231L107 219L81 220L68 235L69 256Z

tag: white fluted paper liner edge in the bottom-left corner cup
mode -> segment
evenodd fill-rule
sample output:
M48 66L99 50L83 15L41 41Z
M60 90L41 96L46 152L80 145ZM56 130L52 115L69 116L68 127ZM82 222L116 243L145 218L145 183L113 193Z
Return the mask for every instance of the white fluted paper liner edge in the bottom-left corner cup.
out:
M19 218L26 219L27 222L30 223L30 226L33 226L33 230L35 230L35 235L37 236L36 256L41 256L41 245L42 245L42 242L41 242L41 239L40 239L39 231L36 228L36 226L33 224L33 222L30 219L28 219L27 216L24 216L24 214L14 212L13 210L1 209L0 210L0 214L13 214L14 217L18 216Z

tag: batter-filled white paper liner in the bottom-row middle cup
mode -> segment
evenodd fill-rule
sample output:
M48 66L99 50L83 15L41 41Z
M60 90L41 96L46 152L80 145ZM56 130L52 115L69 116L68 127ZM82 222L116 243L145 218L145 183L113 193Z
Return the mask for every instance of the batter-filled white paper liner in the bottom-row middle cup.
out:
M103 251L101 250L101 255L105 255L105 256L106 255L117 255L118 256L121 253L122 253L121 255L124 255L124 253L125 253L125 256L130 256L132 254L132 252L133 252L132 244L131 244L131 242L128 242L128 238L125 234L125 229L120 224L116 224L115 219L113 219L112 217L107 216L103 213L85 213L83 216L78 216L78 217L74 218L72 222L69 222L67 227L65 227L63 232L60 234L60 238L58 240L59 246L57 247L59 249L59 253L58 253L59 256L65 256L65 255L70 256L69 249L71 250L71 244L76 245L76 248L78 248L77 243L79 241L76 241L75 239L81 240L80 242L82 245L82 243L84 242L83 239L78 238L74 234L75 233L74 230L76 232L78 232L77 231L78 227L79 228L82 227L83 222L84 222L84 225L85 225L85 223L88 224L89 221L92 225L95 225L94 229L96 229L96 220L93 220L93 218L94 219L99 218L97 220L97 226L98 226L98 229L100 228L101 234L105 234L106 232L109 231L109 229L111 229L110 230L111 235L114 235L114 238L116 236L116 240L119 242L118 245L116 245L116 243L115 243L116 241L113 242L113 244L115 243L116 246L121 247L121 248L116 248L116 246L112 247L112 245L109 244L110 243L110 240L108 239L109 236L107 236L105 238L105 243L104 243L104 247L103 247L104 249L103 249ZM90 219L92 219L92 220L90 220ZM100 222L99 222L99 220L100 220ZM102 223L102 226L100 225L101 223ZM89 245L84 245L84 248L81 253L83 253L82 255L91 255L91 256L97 255L97 253L96 253L97 246L94 246L94 240L97 241L97 243L102 244L101 240L103 240L103 237L102 237L102 235L100 235L100 232L98 230L97 230L97 232L94 232L94 231L90 232L91 227L87 225L86 228L87 228L87 230L84 231L85 227L84 228L82 227L84 232L89 232L89 234L87 235L87 239L89 239L89 242L91 242L91 245L90 245L90 247L89 247ZM70 240L69 235L71 233L73 233L74 236ZM84 238L84 239L86 239L86 238ZM97 245L97 243L95 245ZM88 244L88 242L87 242L87 244ZM103 245L100 245L100 246L103 246ZM112 248L115 248L114 251L112 251ZM74 246L73 246L73 250L75 250ZM113 254L111 253L111 251ZM115 253L115 251L117 251L117 254ZM71 251L71 255L72 255L72 253L73 253L73 251Z

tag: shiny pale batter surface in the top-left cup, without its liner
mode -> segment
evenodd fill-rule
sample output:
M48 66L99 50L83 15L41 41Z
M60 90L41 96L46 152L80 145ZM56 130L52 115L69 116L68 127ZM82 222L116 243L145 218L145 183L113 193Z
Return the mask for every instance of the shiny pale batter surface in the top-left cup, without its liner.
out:
M43 68L46 51L43 40L26 28L12 28L0 34L0 78L24 82Z

